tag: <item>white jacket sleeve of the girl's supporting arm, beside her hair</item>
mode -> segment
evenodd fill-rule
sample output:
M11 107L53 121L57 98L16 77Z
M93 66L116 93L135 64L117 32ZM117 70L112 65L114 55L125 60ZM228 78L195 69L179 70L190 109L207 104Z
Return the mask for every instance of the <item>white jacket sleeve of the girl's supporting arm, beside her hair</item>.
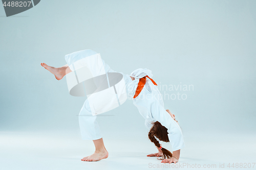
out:
M152 115L161 123L162 126L167 128L168 138L170 144L172 144L173 151L180 150L185 147L183 135L180 126L169 115L169 113L158 102L152 104Z

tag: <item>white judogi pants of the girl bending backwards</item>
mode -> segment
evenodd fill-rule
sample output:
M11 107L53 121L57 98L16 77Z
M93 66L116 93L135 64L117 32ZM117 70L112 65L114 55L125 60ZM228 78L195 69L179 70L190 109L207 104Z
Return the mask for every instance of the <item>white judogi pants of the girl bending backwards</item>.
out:
M111 110L118 105L120 106L127 99L124 85L132 82L132 79L130 76L122 74L122 72L115 74L117 72L112 70L98 53L90 49L68 54L65 56L65 60L72 70L72 72L66 75L70 94L88 97L78 116L81 137L87 140L100 139L102 135L95 114L108 111L108 109ZM92 78L102 75L103 78L106 75L106 78L103 80L108 81L108 88L104 86L105 82L102 79L92 80ZM117 81L117 77L114 76L113 78L113 75L119 75L119 78L122 75L121 81ZM86 80L92 81L85 83ZM88 93L83 95L83 92Z

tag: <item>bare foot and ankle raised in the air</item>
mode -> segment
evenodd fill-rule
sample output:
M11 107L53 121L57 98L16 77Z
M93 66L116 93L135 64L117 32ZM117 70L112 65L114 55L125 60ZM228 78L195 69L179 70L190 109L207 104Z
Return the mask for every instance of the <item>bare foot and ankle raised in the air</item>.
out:
M72 70L69 68L68 64L63 65L62 67L51 67L46 63L41 63L41 66L45 67L48 71L50 71L57 80L61 80L65 75L70 73Z

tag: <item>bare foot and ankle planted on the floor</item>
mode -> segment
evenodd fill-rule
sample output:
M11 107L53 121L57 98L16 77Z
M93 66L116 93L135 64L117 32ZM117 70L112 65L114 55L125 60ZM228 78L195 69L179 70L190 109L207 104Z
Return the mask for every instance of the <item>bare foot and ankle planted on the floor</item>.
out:
M97 139L97 140L93 140L93 142L94 142L94 145L95 145L94 154L82 158L81 161L99 161L101 159L108 158L109 153L105 149L103 139L100 138L100 139Z

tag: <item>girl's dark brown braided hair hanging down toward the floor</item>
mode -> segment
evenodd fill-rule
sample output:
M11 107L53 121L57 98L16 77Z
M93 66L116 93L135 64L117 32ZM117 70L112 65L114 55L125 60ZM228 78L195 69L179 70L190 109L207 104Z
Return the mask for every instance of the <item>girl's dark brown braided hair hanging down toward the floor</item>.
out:
M156 145L156 147L160 148L160 143L155 138L155 136L161 141L169 142L169 138L167 134L168 134L167 129L164 126L162 126L160 122L157 121L153 123L153 126L150 132L148 132L148 138L150 138L150 140ZM170 153L170 151L164 148L162 148L161 150L163 152L163 156L161 160L172 158L173 154Z

